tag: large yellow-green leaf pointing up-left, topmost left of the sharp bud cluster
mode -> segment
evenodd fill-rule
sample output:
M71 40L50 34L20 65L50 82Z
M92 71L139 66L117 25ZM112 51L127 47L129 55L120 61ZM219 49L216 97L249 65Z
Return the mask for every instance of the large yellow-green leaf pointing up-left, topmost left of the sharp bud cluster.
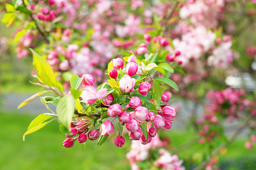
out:
M33 53L33 64L36 67L37 74L39 78L48 86L55 86L56 79L55 74L50 66L50 64L39 56L33 49L30 49Z

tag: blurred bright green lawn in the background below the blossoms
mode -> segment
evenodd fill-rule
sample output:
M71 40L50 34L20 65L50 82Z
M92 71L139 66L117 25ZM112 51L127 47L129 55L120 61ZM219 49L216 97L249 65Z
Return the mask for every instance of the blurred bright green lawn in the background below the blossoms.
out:
M51 122L43 129L26 136L31 120L36 115L26 115L0 111L0 169L1 170L36 170L36 169L130 169L129 161L125 158L129 151L130 141L126 136L123 147L116 147L115 133L102 146L95 147L96 141L88 140L84 154L82 144L75 142L71 148L62 145L65 134L58 130L57 121ZM171 130L163 132L172 142L173 148L193 138L191 131ZM244 148L246 139L238 138L227 147L226 154L219 156L222 169L253 169L256 149L248 151ZM171 150L172 151L172 150ZM195 144L188 149L180 149L179 157L184 159L187 169L195 167L200 156L205 152L205 146ZM245 167L245 168L244 168Z

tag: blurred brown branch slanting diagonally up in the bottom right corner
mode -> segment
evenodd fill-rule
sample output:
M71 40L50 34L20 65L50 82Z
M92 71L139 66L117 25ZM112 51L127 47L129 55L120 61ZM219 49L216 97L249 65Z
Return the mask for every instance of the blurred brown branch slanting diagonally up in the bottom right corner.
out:
M240 126L238 127L235 132L228 138L228 140L226 142L223 142L221 145L219 145L214 151L212 151L211 155L205 160L203 161L199 166L197 166L194 170L201 170L203 169L207 163L217 154L219 154L219 152L227 146L227 144L231 143L236 136L242 131L243 128L245 128L248 124L248 122L250 121L252 116L249 116L246 121Z

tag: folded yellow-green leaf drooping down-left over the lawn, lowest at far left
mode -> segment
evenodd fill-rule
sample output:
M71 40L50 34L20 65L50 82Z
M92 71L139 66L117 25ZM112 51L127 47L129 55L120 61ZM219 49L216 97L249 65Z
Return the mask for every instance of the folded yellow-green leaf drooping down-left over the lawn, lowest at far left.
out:
M34 120L31 121L29 124L28 130L23 134L23 141L25 140L25 136L27 134L33 133L42 127L44 127L46 124L51 122L52 120L48 122L44 122L45 120L51 118L52 116L50 115L45 115L45 113L38 115ZM44 122L44 123L43 123Z

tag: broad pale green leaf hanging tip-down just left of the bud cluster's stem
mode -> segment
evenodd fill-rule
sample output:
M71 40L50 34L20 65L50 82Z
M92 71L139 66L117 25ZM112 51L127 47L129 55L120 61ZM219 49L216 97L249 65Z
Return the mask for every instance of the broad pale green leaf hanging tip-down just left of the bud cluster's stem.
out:
M72 95L65 95L57 104L56 112L59 121L65 128L69 130L70 123L74 114L74 97Z

